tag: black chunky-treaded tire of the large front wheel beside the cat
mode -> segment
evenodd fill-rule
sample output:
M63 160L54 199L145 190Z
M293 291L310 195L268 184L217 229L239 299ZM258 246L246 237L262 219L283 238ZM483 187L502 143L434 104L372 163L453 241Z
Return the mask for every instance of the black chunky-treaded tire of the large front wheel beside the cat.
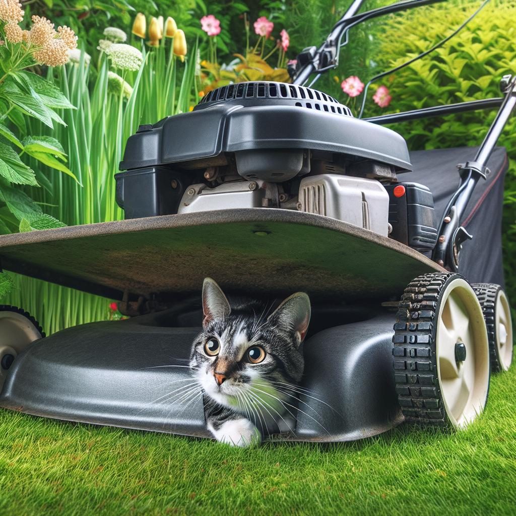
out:
M460 282L458 282L460 280ZM424 426L437 426L445 429L465 426L469 420L459 425L459 417L455 418L451 411L447 412L444 392L439 379L437 363L437 332L439 316L442 315L441 303L443 294L449 296L448 286L456 282L470 296L470 303L475 303L477 317L475 322L475 343L480 342L482 354L473 353L473 364L482 367L482 389L480 398L474 398L481 405L486 404L489 390L489 352L487 332L474 291L464 278L455 273L429 273L415 278L405 289L399 303L394 325L393 365L398 401L405 420ZM450 286L450 288L452 288ZM465 288L467 287L467 288ZM469 289L469 290L467 290ZM444 299L446 301L446 298ZM443 306L443 311L445 307ZM467 324L470 324L469 313ZM441 324L444 324L441 322ZM481 324L481 326L479 326ZM469 327L469 326L468 326ZM481 330L482 333L478 333ZM482 363L485 363L482 365ZM459 362L457 362L459 364ZM457 365L456 364L456 365ZM457 365L457 370L459 365ZM486 379L487 378L487 379ZM487 381L487 391L486 383ZM478 389L478 387L476 388ZM483 393L485 392L485 398ZM477 391L475 390L474 394ZM467 398L469 402L470 398ZM472 398L473 399L473 398ZM477 399L480 399L478 402Z

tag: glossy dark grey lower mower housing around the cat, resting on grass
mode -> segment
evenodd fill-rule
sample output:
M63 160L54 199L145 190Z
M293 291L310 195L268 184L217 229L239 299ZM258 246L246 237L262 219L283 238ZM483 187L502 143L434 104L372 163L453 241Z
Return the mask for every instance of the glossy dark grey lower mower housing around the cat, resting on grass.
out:
M200 328L162 326L166 320L166 312L160 312L93 322L36 341L9 369L0 407L60 420L211 438L202 392L192 391L187 365ZM392 328L393 314L380 313L310 337L304 343L301 384L307 395L301 395L297 414L294 406L289 407L296 427L274 439L352 441L400 423Z

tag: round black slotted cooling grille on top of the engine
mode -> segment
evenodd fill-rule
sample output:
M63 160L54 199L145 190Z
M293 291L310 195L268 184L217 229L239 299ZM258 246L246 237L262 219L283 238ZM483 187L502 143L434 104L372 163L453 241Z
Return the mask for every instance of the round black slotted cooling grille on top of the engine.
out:
M352 116L348 107L322 91L275 82L248 82L222 86L207 93L197 107L202 108L228 101L249 101L249 104L252 105L260 105L261 101L275 101L277 104L295 105L337 115Z

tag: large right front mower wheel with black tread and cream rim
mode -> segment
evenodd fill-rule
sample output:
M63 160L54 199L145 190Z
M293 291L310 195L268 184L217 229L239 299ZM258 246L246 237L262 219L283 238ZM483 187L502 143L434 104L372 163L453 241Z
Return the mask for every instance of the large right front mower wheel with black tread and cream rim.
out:
M460 275L417 277L401 297L393 362L406 421L463 428L486 406L489 343L482 307Z

